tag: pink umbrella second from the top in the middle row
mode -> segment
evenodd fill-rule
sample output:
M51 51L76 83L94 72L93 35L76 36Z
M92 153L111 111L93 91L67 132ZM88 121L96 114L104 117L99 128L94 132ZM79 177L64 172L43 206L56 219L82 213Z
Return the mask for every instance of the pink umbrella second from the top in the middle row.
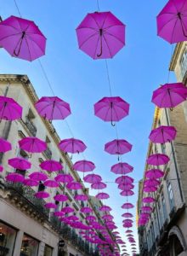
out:
M104 97L94 104L94 114L105 122L120 121L129 112L129 104L121 97Z

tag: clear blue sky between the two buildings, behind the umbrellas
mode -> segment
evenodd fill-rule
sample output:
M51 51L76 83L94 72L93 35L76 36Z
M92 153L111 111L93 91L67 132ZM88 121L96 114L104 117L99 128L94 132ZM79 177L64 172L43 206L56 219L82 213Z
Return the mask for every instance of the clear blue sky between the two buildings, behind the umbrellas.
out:
M93 61L77 47L75 29L88 12L97 8L96 0L46 1L17 0L23 18L34 20L48 38L46 55L41 58L54 92L70 102L72 114L67 122L74 137L88 146L85 157L93 160L104 181L114 181L111 166L117 157L104 152L105 143L116 138L109 123L94 116L94 103L110 96L105 61ZM150 102L152 91L167 82L168 64L172 46L156 36L156 15L167 1L99 0L101 11L110 10L127 25L126 46L108 61L113 96L121 96L130 103L130 114L117 125L120 138L133 143L133 151L122 160L134 166L135 182L143 176L148 136L152 124L154 105ZM3 20L18 15L13 0L0 1ZM0 73L27 74L38 96L52 96L38 61L27 62L12 58L0 49ZM171 82L174 80L173 76ZM44 93L44 94L43 94ZM61 138L71 137L65 122L55 122ZM82 155L73 160L82 159ZM129 199L134 204L135 195ZM115 183L105 190L111 195L105 201L112 208L116 224L126 240L122 228L121 206L125 198L119 195ZM94 194L94 191L91 191ZM135 209L131 211L135 215ZM135 219L134 219L135 220ZM136 229L134 228L136 236Z

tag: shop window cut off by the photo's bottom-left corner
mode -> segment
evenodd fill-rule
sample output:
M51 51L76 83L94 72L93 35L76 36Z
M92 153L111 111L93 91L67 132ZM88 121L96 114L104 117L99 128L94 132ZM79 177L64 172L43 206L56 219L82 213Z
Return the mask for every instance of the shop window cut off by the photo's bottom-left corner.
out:
M13 254L15 237L16 230L0 221L0 255Z

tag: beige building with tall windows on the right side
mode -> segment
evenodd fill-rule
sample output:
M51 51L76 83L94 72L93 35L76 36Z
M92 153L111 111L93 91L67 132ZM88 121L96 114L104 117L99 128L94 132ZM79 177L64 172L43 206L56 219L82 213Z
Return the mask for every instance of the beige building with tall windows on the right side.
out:
M186 43L177 45L170 66L178 82L184 84L187 82L186 46ZM162 168L165 175L155 194L144 193L144 180L139 182L139 215L143 195L156 199L148 224L139 227L139 251L140 255L183 256L187 255L187 102L173 110L156 108L152 129L160 125L175 126L177 137L173 143L149 144L147 157L162 153L170 161ZM145 165L144 172L150 168Z

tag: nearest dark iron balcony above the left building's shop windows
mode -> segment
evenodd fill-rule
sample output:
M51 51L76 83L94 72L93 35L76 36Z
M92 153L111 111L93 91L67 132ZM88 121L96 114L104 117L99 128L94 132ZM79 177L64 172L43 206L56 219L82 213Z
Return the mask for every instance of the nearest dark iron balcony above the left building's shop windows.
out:
M21 183L5 183L6 189L10 190L10 198L16 203L30 205L33 210L36 210L43 218L48 218L49 210L44 207L45 201L35 197L35 191L30 187L26 187Z

